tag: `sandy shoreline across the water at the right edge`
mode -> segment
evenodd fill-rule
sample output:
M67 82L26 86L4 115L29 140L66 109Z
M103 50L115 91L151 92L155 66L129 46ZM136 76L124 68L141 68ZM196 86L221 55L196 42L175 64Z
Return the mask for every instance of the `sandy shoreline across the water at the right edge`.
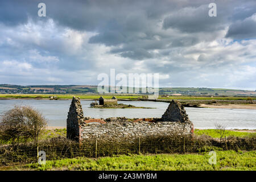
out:
M256 109L256 104L200 104L199 107L218 109Z

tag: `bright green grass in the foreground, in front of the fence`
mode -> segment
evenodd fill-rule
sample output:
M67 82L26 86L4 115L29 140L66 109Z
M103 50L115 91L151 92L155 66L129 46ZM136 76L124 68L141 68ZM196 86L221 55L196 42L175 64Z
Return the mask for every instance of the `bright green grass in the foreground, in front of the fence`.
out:
M210 165L208 152L114 156L98 159L75 158L27 164L22 170L256 170L256 151L216 151L217 164Z

